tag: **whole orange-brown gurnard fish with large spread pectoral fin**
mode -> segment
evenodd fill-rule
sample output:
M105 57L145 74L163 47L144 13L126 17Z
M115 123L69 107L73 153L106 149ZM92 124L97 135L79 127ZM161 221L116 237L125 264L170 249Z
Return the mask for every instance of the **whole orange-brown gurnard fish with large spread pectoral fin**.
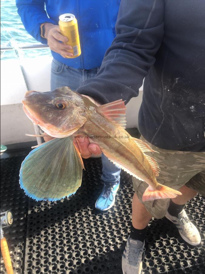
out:
M63 86L50 92L27 91L22 103L28 118L56 137L32 150L22 163L20 185L29 197L56 201L77 191L84 164L73 138L81 135L89 136L113 163L148 184L143 201L181 195L157 182L159 166L145 154L155 151L125 131L126 107L121 99L97 107Z

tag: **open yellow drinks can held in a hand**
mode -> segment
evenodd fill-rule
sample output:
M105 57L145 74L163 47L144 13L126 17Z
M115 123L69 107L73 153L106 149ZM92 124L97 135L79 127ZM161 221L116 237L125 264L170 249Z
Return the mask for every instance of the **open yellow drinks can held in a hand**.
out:
M72 47L71 52L73 56L66 56L67 58L76 58L80 56L80 38L78 33L77 19L71 13L64 13L59 16L60 33L68 38L67 45Z

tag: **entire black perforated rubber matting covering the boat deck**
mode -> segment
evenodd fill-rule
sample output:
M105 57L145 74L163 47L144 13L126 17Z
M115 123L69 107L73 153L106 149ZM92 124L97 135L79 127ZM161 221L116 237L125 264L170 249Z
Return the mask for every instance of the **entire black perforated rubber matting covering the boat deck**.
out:
M131 177L122 172L115 205L102 213L94 208L102 189L101 159L84 160L86 171L75 195L58 202L35 202L19 187L23 159L1 160L1 210L14 215L13 226L4 229L14 273L121 274L131 217ZM186 212L200 231L201 244L186 244L166 218L152 220L142 274L205 273L204 198L197 195ZM5 273L2 257L1 273Z

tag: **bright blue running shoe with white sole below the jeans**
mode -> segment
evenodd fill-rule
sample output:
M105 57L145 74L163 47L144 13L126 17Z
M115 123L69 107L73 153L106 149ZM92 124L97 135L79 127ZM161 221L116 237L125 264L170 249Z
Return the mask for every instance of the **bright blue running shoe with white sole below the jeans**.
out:
M120 181L115 184L104 182L103 190L95 203L95 208L102 211L110 209L114 205L119 186Z

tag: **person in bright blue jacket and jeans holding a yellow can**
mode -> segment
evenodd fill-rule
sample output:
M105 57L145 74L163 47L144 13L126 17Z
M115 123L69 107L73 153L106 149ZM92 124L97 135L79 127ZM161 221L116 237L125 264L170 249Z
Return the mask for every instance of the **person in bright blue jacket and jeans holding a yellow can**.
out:
M120 0L16 0L25 29L39 42L48 44L51 49L51 90L60 86L77 90L85 80L94 78L105 51L115 37L119 5ZM62 43L67 42L67 38L60 34L58 26L59 16L64 13L74 14L78 22L82 53L77 58L66 58L66 55L72 56L67 52L71 47ZM83 142L84 138L78 138L78 141ZM87 158L89 156L87 155ZM95 207L107 210L114 205L121 169L111 163L104 154L102 165L101 178L104 187Z

